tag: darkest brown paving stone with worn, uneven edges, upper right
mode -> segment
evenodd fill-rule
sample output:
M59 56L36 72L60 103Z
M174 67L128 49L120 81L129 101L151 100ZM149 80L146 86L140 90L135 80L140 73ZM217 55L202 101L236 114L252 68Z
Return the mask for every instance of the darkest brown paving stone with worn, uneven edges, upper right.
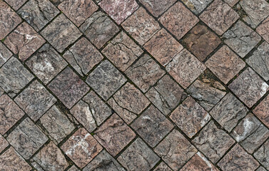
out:
M200 61L215 50L220 44L220 38L209 30L207 26L198 24L183 40L189 51L191 51Z

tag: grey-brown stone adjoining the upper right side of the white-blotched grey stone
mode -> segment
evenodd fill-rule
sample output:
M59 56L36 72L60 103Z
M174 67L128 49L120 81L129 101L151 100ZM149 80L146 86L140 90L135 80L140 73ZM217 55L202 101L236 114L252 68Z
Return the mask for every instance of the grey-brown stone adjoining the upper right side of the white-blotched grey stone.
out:
M60 53L78 39L82 33L76 26L61 14L41 31L41 35Z

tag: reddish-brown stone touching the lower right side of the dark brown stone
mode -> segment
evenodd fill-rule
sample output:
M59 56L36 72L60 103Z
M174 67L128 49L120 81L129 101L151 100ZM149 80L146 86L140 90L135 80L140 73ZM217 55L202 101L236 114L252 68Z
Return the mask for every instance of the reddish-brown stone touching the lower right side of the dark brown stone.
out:
M228 46L223 46L205 62L205 66L207 66L220 81L227 84L230 79L236 76L239 71L245 67L245 62L233 53Z

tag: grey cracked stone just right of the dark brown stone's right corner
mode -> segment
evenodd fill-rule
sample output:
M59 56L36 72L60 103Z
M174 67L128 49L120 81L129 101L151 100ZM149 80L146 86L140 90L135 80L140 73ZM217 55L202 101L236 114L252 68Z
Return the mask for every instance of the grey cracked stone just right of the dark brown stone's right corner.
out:
M261 40L258 33L238 21L232 28L223 34L224 42L242 58L253 49Z

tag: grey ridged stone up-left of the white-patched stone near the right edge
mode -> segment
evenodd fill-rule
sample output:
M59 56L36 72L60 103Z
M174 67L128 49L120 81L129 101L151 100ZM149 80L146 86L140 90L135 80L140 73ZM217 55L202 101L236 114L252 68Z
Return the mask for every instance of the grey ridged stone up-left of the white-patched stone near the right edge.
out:
M240 103L231 93L225 95L225 97L210 110L210 115L229 133L237 125L238 120L244 118L247 113L248 108Z

